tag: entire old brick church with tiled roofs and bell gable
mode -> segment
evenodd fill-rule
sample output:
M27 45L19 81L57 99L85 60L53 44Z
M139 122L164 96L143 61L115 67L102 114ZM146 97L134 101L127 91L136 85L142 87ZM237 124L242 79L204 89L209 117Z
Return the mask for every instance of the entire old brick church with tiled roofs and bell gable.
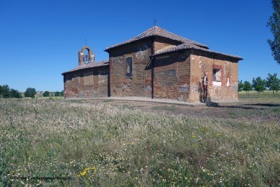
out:
M95 62L89 46L78 51L78 67L62 74L65 98L238 99L241 57L210 50L160 27L105 51L109 60L102 62Z

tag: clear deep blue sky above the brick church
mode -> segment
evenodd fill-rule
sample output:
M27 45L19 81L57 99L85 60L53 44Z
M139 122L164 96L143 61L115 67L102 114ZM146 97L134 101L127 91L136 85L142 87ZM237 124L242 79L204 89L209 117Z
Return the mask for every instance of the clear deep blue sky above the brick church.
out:
M267 39L270 1L0 1L0 85L63 90L62 72L78 65L87 43L96 60L106 47L157 25L211 50L239 55L239 80L280 76Z

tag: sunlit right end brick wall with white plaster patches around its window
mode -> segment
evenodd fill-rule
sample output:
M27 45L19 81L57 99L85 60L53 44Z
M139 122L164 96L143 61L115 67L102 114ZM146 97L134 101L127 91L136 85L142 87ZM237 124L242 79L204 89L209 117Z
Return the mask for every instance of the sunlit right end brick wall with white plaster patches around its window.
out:
M213 69L221 69L221 85L213 81ZM211 101L237 100L238 62L229 57L193 53L190 55L190 102L199 102L204 72L208 78ZM229 84L227 84L229 83Z

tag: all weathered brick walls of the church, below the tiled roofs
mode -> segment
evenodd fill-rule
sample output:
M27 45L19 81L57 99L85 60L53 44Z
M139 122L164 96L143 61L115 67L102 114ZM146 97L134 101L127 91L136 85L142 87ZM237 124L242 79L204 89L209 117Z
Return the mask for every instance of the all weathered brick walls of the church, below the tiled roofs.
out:
M154 44L154 45L153 45ZM109 50L110 66L68 73L64 78L66 98L152 96L152 48L173 46L169 39L144 39ZM125 59L132 57L132 76L125 74ZM221 69L221 85L213 81L213 69ZM207 73L212 101L238 99L238 62L230 57L202 52L177 52L154 58L154 98L200 102L202 78ZM110 82L110 83L109 83Z

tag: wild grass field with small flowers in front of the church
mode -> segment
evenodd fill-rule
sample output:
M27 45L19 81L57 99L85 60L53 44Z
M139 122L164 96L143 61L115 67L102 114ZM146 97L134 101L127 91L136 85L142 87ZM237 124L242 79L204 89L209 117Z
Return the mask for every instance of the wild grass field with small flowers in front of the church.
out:
M232 118L160 109L179 106L0 99L0 186L280 185L280 105Z

